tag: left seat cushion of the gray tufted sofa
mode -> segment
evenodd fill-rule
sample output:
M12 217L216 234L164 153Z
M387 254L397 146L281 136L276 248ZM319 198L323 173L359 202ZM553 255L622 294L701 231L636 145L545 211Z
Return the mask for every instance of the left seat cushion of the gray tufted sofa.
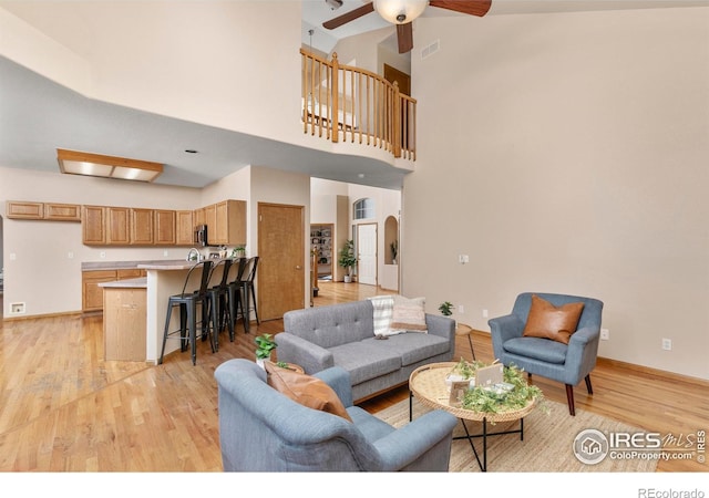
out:
M401 355L379 347L379 343L383 342L388 341L370 338L330 347L330 352L335 364L347 370L350 373L350 382L357 385L401 369Z

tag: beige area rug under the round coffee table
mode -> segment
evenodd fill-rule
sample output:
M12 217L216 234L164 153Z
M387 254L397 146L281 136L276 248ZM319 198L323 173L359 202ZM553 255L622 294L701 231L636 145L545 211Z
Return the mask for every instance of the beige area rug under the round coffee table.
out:
M606 457L603 461L588 465L579 461L574 454L574 439L586 429L596 429L603 434L641 432L637 427L576 408L576 416L568 415L568 406L545 401L548 415L534 409L524 418L524 440L520 434L487 437L489 473L653 473L656 460ZM423 415L429 408L413 401L413 418ZM397 403L378 412L377 417L401 427L409 423L409 400ZM482 424L466 422L471 434L480 434ZM487 432L516 429L517 422L487 424ZM462 424L458 424L453 436L465 435ZM474 439L475 448L482 460L482 438ZM480 466L466 439L453 440L449 471L477 473Z

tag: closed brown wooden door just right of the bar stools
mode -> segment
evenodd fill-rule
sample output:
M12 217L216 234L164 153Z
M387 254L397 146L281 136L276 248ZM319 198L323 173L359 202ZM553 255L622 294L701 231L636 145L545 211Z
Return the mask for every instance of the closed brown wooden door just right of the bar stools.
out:
M305 308L305 207L258 204L256 300L260 320Z

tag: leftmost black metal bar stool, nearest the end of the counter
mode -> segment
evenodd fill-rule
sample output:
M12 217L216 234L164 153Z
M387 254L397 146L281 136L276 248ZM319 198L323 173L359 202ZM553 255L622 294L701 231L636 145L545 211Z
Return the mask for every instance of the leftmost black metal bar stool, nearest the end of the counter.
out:
M171 295L167 301L167 315L165 317L165 332L163 334L163 347L160 353L160 362L163 363L163 356L165 355L165 343L168 339L179 340L181 351L187 349L187 343L192 345L192 364L197 363L197 307L202 307L203 319L202 328L203 335L209 334L209 322L205 320L205 312L207 307L207 288L209 286L209 279L212 278L213 262L209 260L198 261L189 269L185 283L182 288L182 293ZM202 271L199 277L199 289L196 291L187 291L189 279ZM169 331L169 319L172 318L173 310L177 307L179 309L179 329ZM215 352L214 339L210 341L212 352Z

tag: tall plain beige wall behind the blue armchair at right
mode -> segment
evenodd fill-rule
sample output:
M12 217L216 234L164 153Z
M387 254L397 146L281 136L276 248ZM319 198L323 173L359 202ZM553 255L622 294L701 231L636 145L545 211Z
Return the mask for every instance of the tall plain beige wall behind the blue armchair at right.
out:
M441 51L413 61L404 292L482 330L522 291L595 297L602 356L709 378L708 25L709 8L421 19Z

